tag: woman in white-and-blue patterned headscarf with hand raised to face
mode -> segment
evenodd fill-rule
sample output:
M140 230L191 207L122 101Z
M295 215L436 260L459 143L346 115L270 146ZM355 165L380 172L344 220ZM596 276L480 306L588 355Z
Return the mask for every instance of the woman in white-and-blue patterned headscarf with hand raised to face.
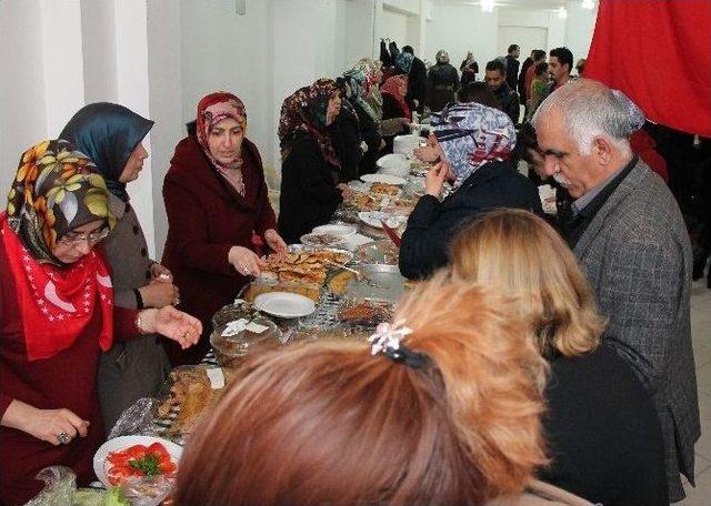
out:
M460 225L497 208L542 215L538 189L508 163L515 130L507 114L475 102L445 109L433 119L440 162L425 176L425 194L414 206L400 245L400 272L421 279L448 262ZM444 182L452 192L440 201Z

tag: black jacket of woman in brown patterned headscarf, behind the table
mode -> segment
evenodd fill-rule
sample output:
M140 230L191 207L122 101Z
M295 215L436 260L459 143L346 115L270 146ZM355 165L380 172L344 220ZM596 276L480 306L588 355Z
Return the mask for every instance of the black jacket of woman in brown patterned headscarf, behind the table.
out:
M281 165L277 226L287 244L298 243L301 235L329 222L343 200L336 188L337 173L312 136L296 142Z

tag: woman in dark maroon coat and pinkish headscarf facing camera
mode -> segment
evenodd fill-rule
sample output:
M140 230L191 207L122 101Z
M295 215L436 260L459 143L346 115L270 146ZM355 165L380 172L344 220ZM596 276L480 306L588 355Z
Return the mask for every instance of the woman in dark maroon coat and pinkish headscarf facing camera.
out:
M196 364L210 347L212 315L232 302L263 262L252 235L284 252L274 230L262 161L244 138L244 104L231 93L204 97L196 131L180 141L163 182L168 240L162 264L180 287L181 308L203 325L197 346L183 351L167 343L173 365Z

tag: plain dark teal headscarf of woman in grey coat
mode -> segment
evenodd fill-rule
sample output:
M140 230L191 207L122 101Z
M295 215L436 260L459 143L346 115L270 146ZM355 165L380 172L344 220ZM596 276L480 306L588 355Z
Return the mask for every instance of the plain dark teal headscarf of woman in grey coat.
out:
M101 172L111 193L128 202L126 183L119 178L131 152L153 128L153 122L123 105L90 103L69 120L59 139L77 145Z

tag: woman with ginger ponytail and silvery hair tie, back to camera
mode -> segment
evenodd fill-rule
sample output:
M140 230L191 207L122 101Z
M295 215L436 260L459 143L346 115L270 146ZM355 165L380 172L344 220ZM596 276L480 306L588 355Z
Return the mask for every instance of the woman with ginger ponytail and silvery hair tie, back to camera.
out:
M372 348L323 340L253 354L192 434L176 503L589 504L533 482L545 364L503 307L440 274Z

